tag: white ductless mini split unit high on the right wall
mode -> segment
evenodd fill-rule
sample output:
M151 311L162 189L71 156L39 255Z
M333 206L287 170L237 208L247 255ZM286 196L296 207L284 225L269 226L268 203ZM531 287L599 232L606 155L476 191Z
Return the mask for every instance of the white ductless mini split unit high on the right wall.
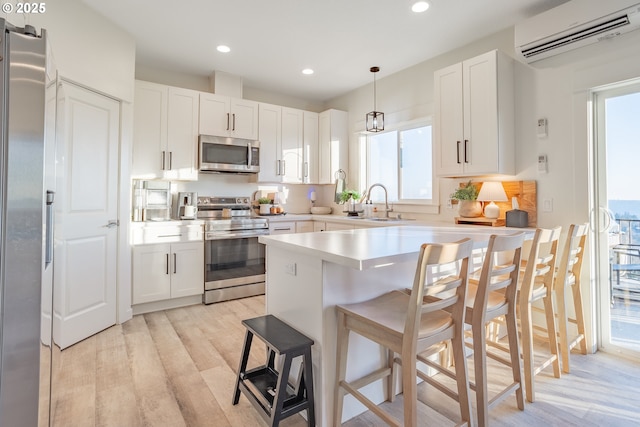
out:
M572 0L517 24L515 48L531 63L638 28L638 0Z

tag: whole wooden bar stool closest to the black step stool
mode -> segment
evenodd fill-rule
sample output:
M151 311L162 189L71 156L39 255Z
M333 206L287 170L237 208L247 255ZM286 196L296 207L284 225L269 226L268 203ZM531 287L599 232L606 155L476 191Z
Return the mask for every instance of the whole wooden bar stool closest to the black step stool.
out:
M345 394L351 394L374 414L392 426L417 425L417 355L442 342L452 342L455 359L457 393L447 393L460 404L461 418L471 423L469 383L464 356L464 302L469 256L472 242L428 245L420 248L413 287L410 293L395 290L369 301L339 305L336 392L334 426L342 423ZM439 280L429 280L429 273L439 266L459 263L457 272ZM430 277L430 276L429 276ZM440 298L437 298L440 296ZM349 333L355 332L389 350L386 366L364 377L346 381ZM394 358L394 354L399 358ZM395 419L369 400L359 389L386 379L387 398L393 400L394 369L402 366L404 422Z

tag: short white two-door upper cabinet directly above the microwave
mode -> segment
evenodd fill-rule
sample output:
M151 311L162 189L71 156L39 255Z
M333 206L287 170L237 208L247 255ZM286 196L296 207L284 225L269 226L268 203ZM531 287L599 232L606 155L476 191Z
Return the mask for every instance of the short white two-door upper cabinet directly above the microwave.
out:
M258 139L258 103L200 93L200 133Z

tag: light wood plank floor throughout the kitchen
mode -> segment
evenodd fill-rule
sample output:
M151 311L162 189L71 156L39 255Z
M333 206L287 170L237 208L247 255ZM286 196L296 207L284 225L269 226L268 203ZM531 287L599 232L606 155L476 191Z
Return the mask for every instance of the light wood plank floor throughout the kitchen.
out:
M139 315L62 351L54 374L53 425L266 425L244 396L231 404L245 332L240 320L262 314L264 297ZM263 360L256 352L252 363ZM492 408L491 425L640 425L640 364L604 353L572 355L572 362L572 373L560 379L547 372L536 377L537 401L524 411L515 398ZM491 383L501 373L489 375ZM452 425L443 415L458 419L453 401L425 385L419 393L430 405L419 405L423 425ZM400 414L402 398L384 405ZM345 426L381 424L364 413ZM306 422L294 415L281 425Z

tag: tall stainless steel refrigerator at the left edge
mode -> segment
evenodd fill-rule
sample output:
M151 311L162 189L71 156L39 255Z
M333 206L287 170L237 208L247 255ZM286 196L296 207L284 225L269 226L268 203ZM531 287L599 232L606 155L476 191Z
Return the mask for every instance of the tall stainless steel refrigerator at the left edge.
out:
M55 132L45 132L45 92L55 82L46 32L0 27L0 426L48 425Z

